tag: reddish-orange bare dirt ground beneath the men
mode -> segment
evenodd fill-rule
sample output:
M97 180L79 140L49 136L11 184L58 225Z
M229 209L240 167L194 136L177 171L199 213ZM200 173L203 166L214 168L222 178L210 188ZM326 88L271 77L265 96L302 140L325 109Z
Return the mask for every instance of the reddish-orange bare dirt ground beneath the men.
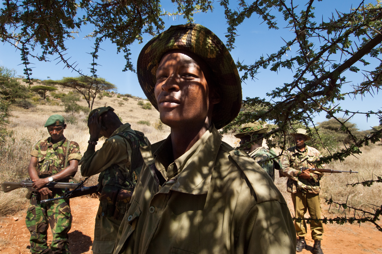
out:
M92 254L94 217L97 212L98 199L75 198L70 206L73 214L72 228L69 233L70 251L72 254ZM9 240L10 244L0 250L1 254L29 253L29 231L25 226L25 213L14 217L0 218L0 236ZM308 227L309 228L309 227ZM48 242L52 240L52 233L48 230ZM310 231L309 231L310 233ZM311 253L309 249L314 241L310 236L306 238L310 247L300 252ZM322 249L325 254L382 254L382 233L369 224L358 225L326 225Z

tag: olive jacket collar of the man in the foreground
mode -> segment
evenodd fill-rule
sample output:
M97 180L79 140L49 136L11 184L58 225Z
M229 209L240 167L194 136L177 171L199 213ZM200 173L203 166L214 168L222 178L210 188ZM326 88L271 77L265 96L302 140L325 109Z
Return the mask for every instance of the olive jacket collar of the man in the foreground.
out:
M167 179L169 182L175 182L170 189L162 188L161 190L179 191L188 194L207 193L221 143L222 137L214 125L212 125L190 150L173 162L180 173L171 179ZM171 145L170 137L141 148L142 157L147 166L155 163L159 171L165 170L164 166L160 163L160 156L163 156L163 152L167 150L164 148L168 147L168 145Z

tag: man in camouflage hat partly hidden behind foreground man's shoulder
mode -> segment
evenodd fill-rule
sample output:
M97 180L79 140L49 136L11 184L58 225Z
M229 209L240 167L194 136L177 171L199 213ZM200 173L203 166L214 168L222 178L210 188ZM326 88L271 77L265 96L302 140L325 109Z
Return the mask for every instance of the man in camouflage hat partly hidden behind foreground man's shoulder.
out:
M274 150L262 146L264 134L267 133L268 127L259 122L245 124L235 134L236 138L240 138L240 145L252 142L245 151L249 153L259 165L269 174L273 181L275 181L275 169L281 169L281 161L277 158ZM274 158L270 160L270 158Z

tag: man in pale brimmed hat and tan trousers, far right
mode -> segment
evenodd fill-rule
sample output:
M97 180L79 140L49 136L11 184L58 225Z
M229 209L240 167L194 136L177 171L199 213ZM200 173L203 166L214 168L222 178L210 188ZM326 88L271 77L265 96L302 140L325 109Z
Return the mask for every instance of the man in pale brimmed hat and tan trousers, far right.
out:
M291 193L293 205L295 207L296 218L304 218L306 210L308 209L309 215L312 219L321 218L321 205L320 205L320 179L322 174L311 173L309 171L301 171L299 168L314 168L314 162L320 160L322 155L313 147L305 144L311 138L304 129L297 129L296 132L291 133L295 137L296 145L288 148L282 157L282 169L280 172L288 177L286 182L286 190ZM295 222L296 233L298 235L298 242L296 251L301 252L306 247L306 223ZM314 246L312 252L314 254L323 254L321 249L322 234L324 228L322 221L310 222L312 231L312 239Z

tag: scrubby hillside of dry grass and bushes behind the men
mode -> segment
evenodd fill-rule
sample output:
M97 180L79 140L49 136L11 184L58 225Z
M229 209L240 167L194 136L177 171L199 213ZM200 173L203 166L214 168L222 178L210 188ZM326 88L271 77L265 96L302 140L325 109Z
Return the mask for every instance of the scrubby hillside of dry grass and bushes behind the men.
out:
M20 80L19 80L20 81ZM87 128L87 115L89 113L88 102L82 98L79 93L62 86L55 86L57 90L47 90L41 96L37 93L31 93L23 90L27 87L21 82L19 90L24 91L24 95L18 95L15 103L8 104L10 111L7 111L8 122L2 122L2 139L0 141L0 182L21 181L28 177L27 166L30 159L32 146L40 139L48 137L48 132L44 128L46 119L52 114L62 114L68 125L65 130L65 136L76 141L81 149L81 153L87 148L89 140L89 130ZM36 82L36 86L40 86ZM33 86L32 86L33 87ZM37 89L36 89L37 90ZM135 130L144 132L151 143L165 139L170 129L163 125L159 120L159 112L155 109L148 110L145 106L151 108L151 104L142 98L132 96L131 94L118 94L104 91L101 98L95 99L94 107L112 106L123 123L129 122ZM43 99L43 96L46 98ZM3 114L4 115L4 114ZM6 116L6 115L4 115ZM6 119L4 117L3 119ZM308 145L316 147L323 153L326 148L336 151L343 147L343 143L349 143L346 134L338 130L335 121L329 120L318 125L321 140L319 140L316 130L312 129L312 140ZM6 128L5 128L6 127ZM272 128L272 125L269 125ZM348 122L348 127L356 135L367 135L367 131L359 131L355 124ZM377 127L379 128L379 127ZM223 141L233 147L239 146L239 139L233 136L233 132L223 135ZM273 140L277 142L277 138ZM104 140L98 142L96 149L102 147ZM264 142L264 145L265 142ZM288 137L288 146L292 146L293 140ZM281 149L275 149L280 153ZM378 174L382 166L382 145L376 143L363 148L363 153L357 155L357 158L350 156L342 163L333 162L326 165L326 168L336 170L359 171L359 174L332 174L324 176L321 181L322 198L335 197L337 201L346 202L356 207L367 207L368 204L380 204L382 202L382 184L376 183L371 187L346 187L346 183L358 181L358 179L371 179L372 174ZM277 174L276 174L277 176ZM77 179L83 179L78 172ZM86 185L97 184L98 176L92 176L87 180ZM290 201L290 194L286 192L286 178L275 179L275 184L280 189L286 200ZM0 215L12 214L23 210L28 205L25 199L26 189L4 193L0 192ZM291 202L289 202L291 205ZM293 209L293 208L292 208ZM332 212L336 208L332 207Z

